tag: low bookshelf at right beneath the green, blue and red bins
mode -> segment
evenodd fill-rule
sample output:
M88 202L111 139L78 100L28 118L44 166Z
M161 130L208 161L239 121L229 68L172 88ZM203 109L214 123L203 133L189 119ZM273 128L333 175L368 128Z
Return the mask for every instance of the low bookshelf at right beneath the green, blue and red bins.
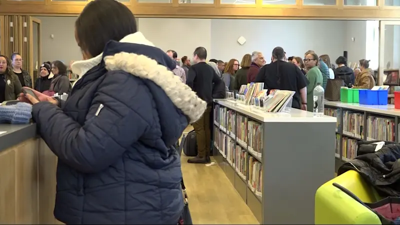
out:
M357 153L357 140L398 142L400 109L394 105L362 105L325 100L325 114L335 116L335 171Z

